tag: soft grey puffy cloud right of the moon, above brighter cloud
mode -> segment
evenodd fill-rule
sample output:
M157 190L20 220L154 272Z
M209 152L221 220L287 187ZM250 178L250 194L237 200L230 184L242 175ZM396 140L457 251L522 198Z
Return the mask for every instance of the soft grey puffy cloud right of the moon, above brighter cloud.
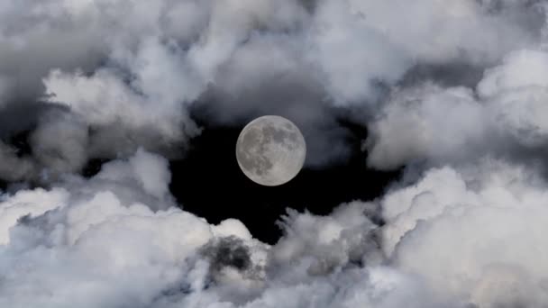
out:
M380 114L370 122L365 146L369 164L382 169L469 159L485 152L492 122L469 88L432 84L395 92Z

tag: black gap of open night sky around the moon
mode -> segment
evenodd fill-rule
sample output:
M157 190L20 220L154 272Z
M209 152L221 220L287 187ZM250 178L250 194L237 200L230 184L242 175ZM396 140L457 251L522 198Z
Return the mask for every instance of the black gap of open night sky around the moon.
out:
M185 211L210 223L227 218L242 221L261 241L275 243L281 236L277 222L286 209L328 214L353 200L372 200L399 176L398 171L367 168L361 140L367 131L342 123L349 131L351 159L323 168L303 168L283 186L260 186L242 174L234 147L242 127L206 127L190 142L184 159L170 162L171 193ZM379 220L377 217L371 217Z

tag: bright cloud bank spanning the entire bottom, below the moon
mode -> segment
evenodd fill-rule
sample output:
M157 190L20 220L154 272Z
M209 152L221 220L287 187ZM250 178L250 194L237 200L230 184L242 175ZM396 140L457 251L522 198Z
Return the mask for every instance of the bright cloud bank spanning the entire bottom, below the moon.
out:
M241 222L211 225L180 210L166 191L167 175L164 159L140 151L90 179L4 195L0 303L546 303L547 184L529 168L489 159L473 168L434 168L416 184L375 202L342 204L329 216L289 212L274 246L254 240ZM379 210L384 225L370 220Z

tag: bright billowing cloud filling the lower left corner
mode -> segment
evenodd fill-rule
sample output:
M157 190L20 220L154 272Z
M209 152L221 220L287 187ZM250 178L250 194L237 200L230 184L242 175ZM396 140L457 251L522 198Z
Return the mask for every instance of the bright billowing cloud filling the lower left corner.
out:
M170 204L165 160L146 152L67 183L3 196L3 305L145 306L186 284L186 259L214 234L242 234Z

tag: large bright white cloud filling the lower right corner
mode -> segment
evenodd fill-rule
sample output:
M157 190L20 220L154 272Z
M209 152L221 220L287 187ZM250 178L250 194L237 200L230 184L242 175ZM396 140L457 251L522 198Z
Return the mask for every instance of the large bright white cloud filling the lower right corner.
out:
M479 307L543 306L545 186L530 168L501 161L432 169L384 197L385 249L436 294Z

